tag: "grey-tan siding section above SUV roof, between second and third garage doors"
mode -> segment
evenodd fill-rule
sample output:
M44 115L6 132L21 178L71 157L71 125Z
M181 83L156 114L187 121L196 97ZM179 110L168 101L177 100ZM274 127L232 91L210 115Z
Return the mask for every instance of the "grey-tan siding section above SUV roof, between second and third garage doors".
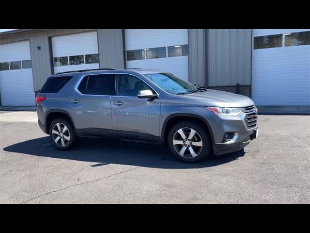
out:
M124 68L122 29L98 29L100 68Z

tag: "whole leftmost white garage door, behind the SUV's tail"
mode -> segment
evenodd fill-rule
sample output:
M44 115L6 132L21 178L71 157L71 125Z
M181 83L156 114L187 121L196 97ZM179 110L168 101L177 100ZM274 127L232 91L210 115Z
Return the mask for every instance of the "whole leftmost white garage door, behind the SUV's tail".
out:
M29 41L0 45L2 106L35 105Z

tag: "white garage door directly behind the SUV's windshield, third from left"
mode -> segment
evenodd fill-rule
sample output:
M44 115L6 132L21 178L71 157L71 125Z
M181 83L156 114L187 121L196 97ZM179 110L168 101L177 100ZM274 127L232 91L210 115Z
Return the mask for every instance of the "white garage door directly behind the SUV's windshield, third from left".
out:
M152 68L188 80L187 29L126 29L127 68Z

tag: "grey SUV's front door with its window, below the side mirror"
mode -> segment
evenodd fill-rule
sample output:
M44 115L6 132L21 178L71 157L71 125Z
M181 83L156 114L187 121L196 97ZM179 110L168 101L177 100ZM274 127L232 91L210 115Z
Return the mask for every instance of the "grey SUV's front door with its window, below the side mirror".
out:
M116 93L111 96L112 126L116 137L159 141L160 100L139 99L140 90L151 89L138 77L116 75Z

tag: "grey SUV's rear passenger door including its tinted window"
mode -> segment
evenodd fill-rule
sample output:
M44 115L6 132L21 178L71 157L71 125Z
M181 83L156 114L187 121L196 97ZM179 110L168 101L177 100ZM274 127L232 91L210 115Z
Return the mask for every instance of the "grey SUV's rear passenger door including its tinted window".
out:
M115 74L84 76L70 96L70 114L79 134L112 134L111 95L115 93Z

